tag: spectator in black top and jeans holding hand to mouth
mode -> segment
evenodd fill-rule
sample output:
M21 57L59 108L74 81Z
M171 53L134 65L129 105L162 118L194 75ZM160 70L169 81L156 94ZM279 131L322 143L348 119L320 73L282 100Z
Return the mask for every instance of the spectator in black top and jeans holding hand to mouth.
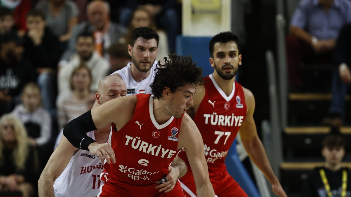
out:
M45 16L38 10L28 12L27 27L24 55L31 60L37 72L44 108L54 114L55 74L60 57L60 42L46 27Z

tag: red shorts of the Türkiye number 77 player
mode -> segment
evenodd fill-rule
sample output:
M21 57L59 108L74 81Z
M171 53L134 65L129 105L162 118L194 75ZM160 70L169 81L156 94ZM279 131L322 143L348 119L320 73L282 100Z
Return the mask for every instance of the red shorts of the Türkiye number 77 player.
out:
M179 178L183 192L187 197L196 197L196 186L193 173L188 172ZM219 197L248 197L245 191L239 184L230 176L227 170L224 170L221 175L217 174L216 177L210 177L214 193Z

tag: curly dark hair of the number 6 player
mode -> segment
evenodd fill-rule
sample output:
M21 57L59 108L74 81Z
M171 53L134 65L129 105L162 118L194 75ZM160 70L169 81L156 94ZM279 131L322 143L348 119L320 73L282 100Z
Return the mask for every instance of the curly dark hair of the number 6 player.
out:
M158 61L154 82L150 84L155 99L163 97L165 87L169 87L173 93L186 84L194 84L195 87L203 84L202 68L196 66L191 56L184 57L173 53L169 54L168 58L165 57L164 62L161 64L161 61Z

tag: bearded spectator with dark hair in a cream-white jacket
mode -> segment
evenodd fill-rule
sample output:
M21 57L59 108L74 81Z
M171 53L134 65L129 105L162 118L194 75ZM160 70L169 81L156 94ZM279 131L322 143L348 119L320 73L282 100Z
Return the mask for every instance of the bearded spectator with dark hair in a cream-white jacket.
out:
M100 79L107 76L108 69L110 69L108 66L108 61L101 57L95 50L94 37L91 33L83 32L79 34L75 42L75 48L77 50L77 54L72 56L69 63L59 70L58 100L60 100L63 95L72 93L72 90L69 88L70 76L73 70L80 65L85 65L91 70L92 81L90 83L90 90L92 92L97 91Z

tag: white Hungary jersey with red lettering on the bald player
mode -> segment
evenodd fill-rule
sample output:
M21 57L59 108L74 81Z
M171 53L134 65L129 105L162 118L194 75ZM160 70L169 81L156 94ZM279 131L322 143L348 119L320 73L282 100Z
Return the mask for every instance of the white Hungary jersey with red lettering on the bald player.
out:
M94 131L87 135L95 140ZM100 174L104 170L98 155L87 150L79 150L54 183L55 197L91 197L99 193Z

